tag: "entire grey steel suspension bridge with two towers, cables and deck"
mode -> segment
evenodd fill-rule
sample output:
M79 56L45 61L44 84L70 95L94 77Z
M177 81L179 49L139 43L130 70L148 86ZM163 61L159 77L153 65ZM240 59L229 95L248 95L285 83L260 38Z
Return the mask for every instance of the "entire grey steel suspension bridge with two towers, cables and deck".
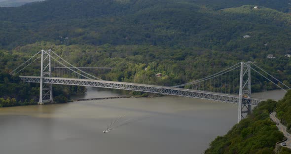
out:
M39 59L40 73L31 72L33 69L26 69L29 66L37 69L39 63L36 63L36 61ZM65 69L65 71L60 71L61 69ZM214 75L176 86L107 81L84 72L80 67L73 66L52 50L39 51L19 65L11 74L16 75L22 73L24 75L20 75L19 77L24 82L40 84L38 104L53 102L52 84L91 86L236 103L238 104L239 122L247 114L252 112L252 105L257 105L261 101L265 101L263 98L254 98L251 96L251 71L259 74L260 77L265 78L269 83L278 86L284 91L286 91L285 89L290 89L283 82L271 76L252 62L240 62Z

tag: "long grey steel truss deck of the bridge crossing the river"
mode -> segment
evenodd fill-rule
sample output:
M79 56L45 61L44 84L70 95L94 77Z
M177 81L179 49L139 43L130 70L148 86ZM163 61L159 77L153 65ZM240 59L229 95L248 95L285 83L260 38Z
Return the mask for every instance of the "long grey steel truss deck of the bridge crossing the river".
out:
M34 76L19 76L24 82L40 82L40 77ZM102 87L111 89L122 89L131 91L142 91L149 93L157 93L164 95L183 96L190 98L200 98L219 102L227 103L238 103L239 96L228 95L223 93L214 93L207 91L199 91L192 89L184 89L177 87L167 87L158 85L147 85L139 83L128 83L128 82L116 82L106 80L93 80L93 79L81 79L81 78L63 78L63 77L43 77L43 83L52 84L64 84L64 85L80 85L80 86L91 86L91 87ZM259 102L264 101L263 99L257 98L243 98L242 102L257 105Z

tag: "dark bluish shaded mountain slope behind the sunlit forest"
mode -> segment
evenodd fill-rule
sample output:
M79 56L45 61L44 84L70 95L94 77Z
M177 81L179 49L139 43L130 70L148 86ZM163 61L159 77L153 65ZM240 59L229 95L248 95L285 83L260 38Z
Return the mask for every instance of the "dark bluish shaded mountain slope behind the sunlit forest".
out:
M214 11L174 0L48 0L1 8L2 46L147 44L221 51L289 52L291 15L253 5ZM244 13L248 12L248 13ZM8 30L7 30L8 29ZM243 39L250 35L250 39ZM269 44L265 47L264 44Z

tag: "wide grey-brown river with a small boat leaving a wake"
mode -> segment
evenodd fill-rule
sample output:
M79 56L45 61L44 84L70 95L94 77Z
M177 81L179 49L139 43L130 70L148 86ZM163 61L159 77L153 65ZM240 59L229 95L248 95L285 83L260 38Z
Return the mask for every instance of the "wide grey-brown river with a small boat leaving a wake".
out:
M263 94L270 96L257 96ZM88 88L75 97L117 95L123 94ZM0 153L201 154L237 122L237 110L235 104L174 96L0 108ZM120 116L119 123L129 123L103 133Z

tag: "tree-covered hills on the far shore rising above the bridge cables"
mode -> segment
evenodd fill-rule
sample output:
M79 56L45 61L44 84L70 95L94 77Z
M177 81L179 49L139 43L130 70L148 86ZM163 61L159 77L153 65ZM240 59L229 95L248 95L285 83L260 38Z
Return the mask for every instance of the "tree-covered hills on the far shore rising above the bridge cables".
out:
M289 5L289 0L46 0L0 7L0 72L20 83L8 73L39 50L52 49L77 67L113 68L97 71L106 80L177 85L253 61L291 85L291 58L285 56L291 53ZM254 79L253 92L276 88Z

